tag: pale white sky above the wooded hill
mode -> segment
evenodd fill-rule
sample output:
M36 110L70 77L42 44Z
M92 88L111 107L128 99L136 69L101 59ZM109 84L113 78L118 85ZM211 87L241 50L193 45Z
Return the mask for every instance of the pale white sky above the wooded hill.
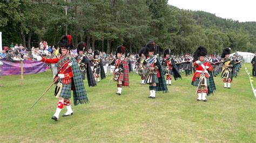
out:
M210 12L239 22L256 22L256 0L169 0L168 4L179 9Z

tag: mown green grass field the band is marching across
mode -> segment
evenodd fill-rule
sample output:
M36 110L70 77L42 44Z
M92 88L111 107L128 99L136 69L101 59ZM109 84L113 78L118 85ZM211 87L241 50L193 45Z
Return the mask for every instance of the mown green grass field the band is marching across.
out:
M245 66L251 72L251 65ZM140 85L136 74L130 74L130 88L121 96L116 83L107 87L110 78L95 88L84 81L90 103L72 106L72 116L54 121L54 88L30 109L51 84L51 71L25 75L23 86L18 75L0 77L0 142L256 141L256 99L244 65L231 89L215 77L217 91L207 102L197 101L192 75L173 80L169 93L157 93L156 99L147 98L149 85Z

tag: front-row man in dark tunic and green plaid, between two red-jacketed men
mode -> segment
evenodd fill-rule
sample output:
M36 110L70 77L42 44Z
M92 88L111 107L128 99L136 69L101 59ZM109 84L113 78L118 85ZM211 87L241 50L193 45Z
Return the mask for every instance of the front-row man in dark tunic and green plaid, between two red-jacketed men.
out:
M146 44L145 56L146 69L145 69L145 83L150 84L149 98L156 98L156 91L168 92L166 87L163 70L161 69L160 61L157 55L154 55L156 49L156 42L150 41Z

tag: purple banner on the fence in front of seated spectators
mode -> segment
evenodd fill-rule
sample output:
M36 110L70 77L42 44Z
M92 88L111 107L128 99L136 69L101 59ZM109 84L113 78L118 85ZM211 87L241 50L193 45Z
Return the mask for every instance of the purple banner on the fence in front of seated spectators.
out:
M20 75L21 61L1 60L0 75ZM23 61L23 74L42 73L46 70L46 63L38 61Z

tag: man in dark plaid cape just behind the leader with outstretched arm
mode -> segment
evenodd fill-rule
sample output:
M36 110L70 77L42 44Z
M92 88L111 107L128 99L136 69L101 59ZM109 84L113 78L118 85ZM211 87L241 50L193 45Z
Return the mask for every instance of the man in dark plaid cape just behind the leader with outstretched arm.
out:
M95 81L95 76L92 73L92 69L89 63L89 58L87 57L87 55L84 54L84 52L86 51L85 47L86 47L85 42L78 43L77 52L79 55L77 56L77 62L82 75L82 79L85 80L85 73L86 73L89 87L95 87L97 84Z

